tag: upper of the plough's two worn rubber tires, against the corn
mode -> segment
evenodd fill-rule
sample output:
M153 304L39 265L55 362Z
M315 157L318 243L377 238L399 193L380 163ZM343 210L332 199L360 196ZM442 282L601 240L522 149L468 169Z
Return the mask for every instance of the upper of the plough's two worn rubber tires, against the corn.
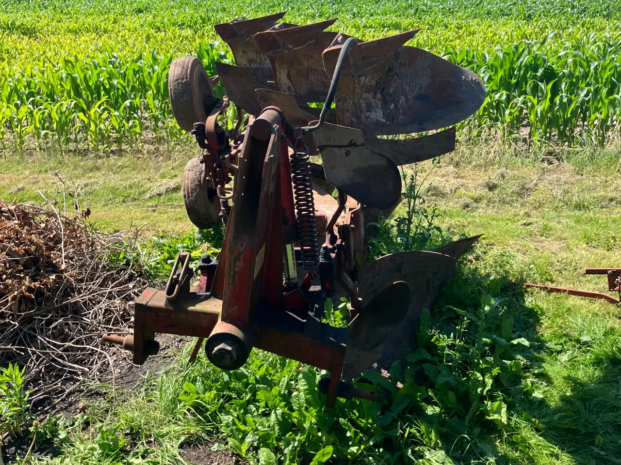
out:
M213 96L214 89L202 61L196 56L182 56L170 65L168 96L173 115L179 127L191 131L194 123L207 120L205 97Z

